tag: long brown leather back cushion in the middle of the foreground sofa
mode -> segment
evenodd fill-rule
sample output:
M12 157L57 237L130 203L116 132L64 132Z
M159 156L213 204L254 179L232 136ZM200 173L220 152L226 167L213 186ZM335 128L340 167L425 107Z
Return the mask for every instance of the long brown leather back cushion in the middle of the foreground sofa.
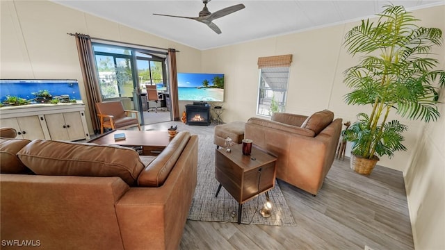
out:
M33 140L17 153L35 174L49 176L118 176L135 185L144 168L133 149L115 145Z

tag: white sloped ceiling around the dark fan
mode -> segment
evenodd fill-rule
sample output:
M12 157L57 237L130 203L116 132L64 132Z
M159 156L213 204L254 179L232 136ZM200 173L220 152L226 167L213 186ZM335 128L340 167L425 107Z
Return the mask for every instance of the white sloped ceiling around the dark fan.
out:
M204 6L201 0L53 1L200 50L364 19L381 12L382 6L389 4L389 1L366 0L212 0L207 4L210 12L238 3L245 5L243 10L213 21L223 32L218 35L206 24L192 19L152 15L197 17ZM407 10L445 4L445 0L391 2Z

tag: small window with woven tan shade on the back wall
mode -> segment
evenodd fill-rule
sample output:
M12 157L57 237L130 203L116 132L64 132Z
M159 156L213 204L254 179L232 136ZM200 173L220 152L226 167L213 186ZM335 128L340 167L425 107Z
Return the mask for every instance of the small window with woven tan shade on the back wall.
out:
M284 112L292 55L258 59L259 90L257 115Z

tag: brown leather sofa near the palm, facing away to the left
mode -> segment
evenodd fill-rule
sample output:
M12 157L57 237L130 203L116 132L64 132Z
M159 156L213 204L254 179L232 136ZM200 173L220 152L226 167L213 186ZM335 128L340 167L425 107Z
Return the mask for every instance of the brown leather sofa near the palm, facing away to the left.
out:
M277 156L277 178L316 195L332 163L341 119L329 110L310 117L275 113L271 120L252 117L244 138Z

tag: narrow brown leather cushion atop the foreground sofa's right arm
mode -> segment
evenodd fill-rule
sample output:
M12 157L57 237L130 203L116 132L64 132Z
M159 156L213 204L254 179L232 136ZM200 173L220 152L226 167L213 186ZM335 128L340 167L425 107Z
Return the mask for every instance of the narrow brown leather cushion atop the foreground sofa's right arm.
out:
M190 136L188 131L177 133L159 156L140 172L138 185L141 187L160 187L163 185L186 147Z

